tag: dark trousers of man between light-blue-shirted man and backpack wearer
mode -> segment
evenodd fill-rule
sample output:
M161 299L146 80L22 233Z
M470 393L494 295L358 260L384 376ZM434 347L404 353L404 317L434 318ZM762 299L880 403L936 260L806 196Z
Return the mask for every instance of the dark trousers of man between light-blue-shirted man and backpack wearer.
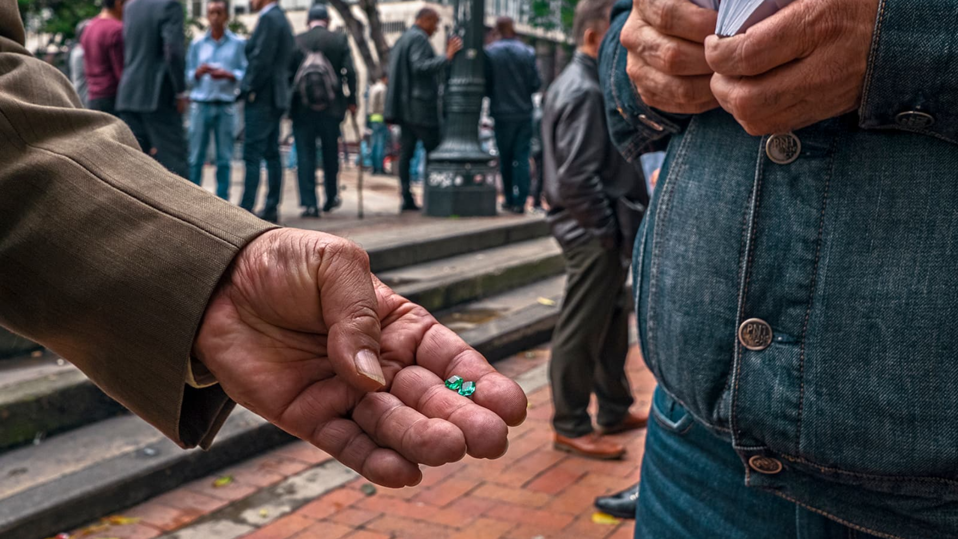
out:
M253 211L256 192L260 188L260 166L266 161L269 189L262 213L273 217L283 194L283 164L280 162L280 119L283 110L268 103L247 104L245 108L246 137L243 141L242 158L246 163L242 199L239 207Z

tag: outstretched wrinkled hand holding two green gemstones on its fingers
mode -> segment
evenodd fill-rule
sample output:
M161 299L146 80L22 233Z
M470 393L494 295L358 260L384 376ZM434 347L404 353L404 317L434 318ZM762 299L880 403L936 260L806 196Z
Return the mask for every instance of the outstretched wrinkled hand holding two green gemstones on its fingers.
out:
M419 464L500 457L526 398L478 352L370 274L365 251L285 228L239 253L194 357L240 405L367 479L399 487ZM472 399L443 384L476 383Z

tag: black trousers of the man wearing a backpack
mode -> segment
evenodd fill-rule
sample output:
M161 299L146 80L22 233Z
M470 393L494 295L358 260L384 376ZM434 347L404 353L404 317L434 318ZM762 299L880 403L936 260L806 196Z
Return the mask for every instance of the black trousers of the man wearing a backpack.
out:
M339 175L339 123L334 116L314 110L300 110L293 116L293 137L296 139L296 178L299 182L300 205L314 208L316 197L316 139L323 152L323 185L326 200L336 198Z

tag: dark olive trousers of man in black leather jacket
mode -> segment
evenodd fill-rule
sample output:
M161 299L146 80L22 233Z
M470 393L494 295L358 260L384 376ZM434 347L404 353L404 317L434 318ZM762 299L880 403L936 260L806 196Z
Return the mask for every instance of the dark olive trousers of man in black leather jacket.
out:
M556 433L577 438L592 432L587 409L593 392L603 427L621 422L633 403L626 378L626 269L619 250L607 250L599 240L562 251L567 278L549 362L552 423Z

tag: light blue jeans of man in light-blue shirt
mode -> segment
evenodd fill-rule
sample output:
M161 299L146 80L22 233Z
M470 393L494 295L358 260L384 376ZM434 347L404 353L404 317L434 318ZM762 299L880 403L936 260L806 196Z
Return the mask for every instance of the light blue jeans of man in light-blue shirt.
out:
M217 147L217 197L220 199L230 199L235 126L236 105L232 103L190 105L190 181L196 185L203 183L203 164L212 133Z

